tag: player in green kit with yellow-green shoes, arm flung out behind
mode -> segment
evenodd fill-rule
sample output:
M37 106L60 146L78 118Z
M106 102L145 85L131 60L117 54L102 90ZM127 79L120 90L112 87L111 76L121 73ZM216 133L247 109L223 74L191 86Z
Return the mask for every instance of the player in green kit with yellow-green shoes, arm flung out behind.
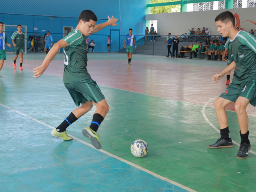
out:
M91 79L90 74L87 72L88 51L86 39L91 34L107 26L118 25L116 24L117 20L113 16L112 18L108 16L107 22L96 25L96 15L90 10L82 11L79 15L76 29L54 44L44 59L43 64L34 69L34 77L40 77L58 51L64 48L64 85L75 104L77 106L81 104L82 106L72 111L58 127L52 130L51 134L53 137L59 137L62 140L73 140L66 132L67 127L90 111L94 104L97 109L93 115L91 125L84 128L82 133L91 140L95 148L99 149L101 147L99 135L96 132L107 115L109 106L96 82Z

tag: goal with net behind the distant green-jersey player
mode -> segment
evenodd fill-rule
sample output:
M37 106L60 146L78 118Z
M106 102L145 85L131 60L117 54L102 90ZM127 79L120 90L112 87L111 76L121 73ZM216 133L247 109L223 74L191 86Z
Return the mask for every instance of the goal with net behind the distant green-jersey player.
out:
M5 32L6 35L7 35L7 41L8 41L9 44L12 45L11 48L6 46L6 52L13 52L13 44L12 44L11 37L12 37L12 34L16 31L17 31L17 25L3 25L3 32ZM25 34L25 40L24 40L25 50L23 52L26 53L26 49L27 49L27 44L26 44L26 42L27 42L27 26L23 25L21 32L23 32Z

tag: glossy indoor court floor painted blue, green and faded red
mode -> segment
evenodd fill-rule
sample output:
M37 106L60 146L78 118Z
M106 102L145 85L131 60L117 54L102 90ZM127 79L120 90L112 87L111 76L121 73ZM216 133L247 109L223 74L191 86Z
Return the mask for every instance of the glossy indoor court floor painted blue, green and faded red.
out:
M227 62L133 54L128 66L126 54L88 53L88 71L110 106L96 150L81 134L95 107L67 129L73 141L52 137L76 105L63 84L63 53L33 78L45 56L24 54L21 71L9 53L0 71L0 192L255 192L253 106L247 159L236 159L234 103L227 107L233 148L207 148L220 137L213 102L227 80L211 78ZM137 139L148 143L143 158L130 151Z

